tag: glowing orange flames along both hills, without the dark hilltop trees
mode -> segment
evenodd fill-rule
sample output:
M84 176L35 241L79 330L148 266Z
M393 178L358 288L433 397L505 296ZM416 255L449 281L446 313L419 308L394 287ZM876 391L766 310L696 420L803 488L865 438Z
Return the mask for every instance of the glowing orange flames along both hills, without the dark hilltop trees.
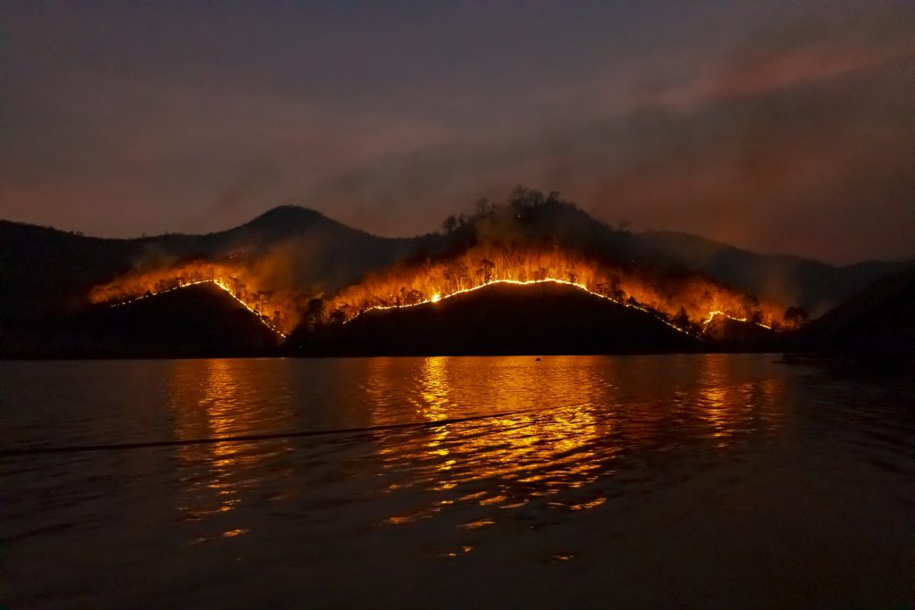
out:
M295 286L268 285L242 262L186 262L127 273L92 288L92 303L124 305L195 284L214 284L277 335L286 337L311 307ZM347 323L372 310L441 303L491 284L563 284L638 309L681 332L702 337L717 316L767 329L791 327L779 305L762 302L694 273L601 264L558 249L474 246L436 262L400 265L350 285L309 309L309 324ZM313 313L317 312L317 313Z

